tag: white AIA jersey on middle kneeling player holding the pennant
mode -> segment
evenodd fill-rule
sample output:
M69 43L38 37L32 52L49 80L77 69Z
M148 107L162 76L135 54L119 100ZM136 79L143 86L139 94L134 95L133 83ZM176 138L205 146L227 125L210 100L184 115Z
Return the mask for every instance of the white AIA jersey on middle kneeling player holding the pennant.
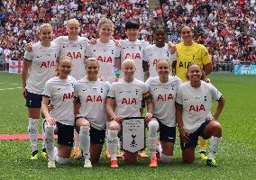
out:
M149 87L142 81L134 78L133 82L127 83L122 78L112 84L107 96L115 99L117 115L141 117L142 98L149 93Z

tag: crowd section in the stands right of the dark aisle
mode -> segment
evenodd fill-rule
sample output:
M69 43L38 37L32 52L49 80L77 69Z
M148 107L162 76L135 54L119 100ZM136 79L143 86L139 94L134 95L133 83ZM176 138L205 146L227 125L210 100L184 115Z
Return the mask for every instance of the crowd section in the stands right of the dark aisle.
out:
M180 41L180 27L188 24L195 40L208 48L216 68L224 63L256 64L255 0L161 0L160 4L169 40Z

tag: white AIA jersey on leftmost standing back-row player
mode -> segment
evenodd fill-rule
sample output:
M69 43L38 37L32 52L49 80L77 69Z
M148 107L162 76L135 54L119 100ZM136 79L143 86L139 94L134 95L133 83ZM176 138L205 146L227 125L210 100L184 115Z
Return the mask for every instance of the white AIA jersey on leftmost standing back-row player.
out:
M31 52L24 53L24 58L32 62L26 89L33 94L42 94L45 82L54 74L56 59L59 58L59 45L50 42L50 47L44 47L39 41L32 45L32 49Z

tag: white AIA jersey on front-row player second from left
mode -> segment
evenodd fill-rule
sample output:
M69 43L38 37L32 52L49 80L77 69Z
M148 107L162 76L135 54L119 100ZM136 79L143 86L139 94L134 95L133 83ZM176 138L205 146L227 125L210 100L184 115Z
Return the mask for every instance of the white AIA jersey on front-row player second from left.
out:
M105 97L109 88L108 81L88 81L85 77L75 85L75 96L81 103L77 116L86 117L97 130L105 130Z

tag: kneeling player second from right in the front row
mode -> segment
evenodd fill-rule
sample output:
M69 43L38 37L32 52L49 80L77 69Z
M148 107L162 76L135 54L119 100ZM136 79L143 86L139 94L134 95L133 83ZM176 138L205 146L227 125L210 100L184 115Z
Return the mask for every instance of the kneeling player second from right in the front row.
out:
M170 163L173 157L176 139L175 98L178 86L182 84L178 76L169 76L170 69L169 60L160 59L156 64L159 76L150 77L146 81L154 104L152 114L160 124L160 160L166 164Z

